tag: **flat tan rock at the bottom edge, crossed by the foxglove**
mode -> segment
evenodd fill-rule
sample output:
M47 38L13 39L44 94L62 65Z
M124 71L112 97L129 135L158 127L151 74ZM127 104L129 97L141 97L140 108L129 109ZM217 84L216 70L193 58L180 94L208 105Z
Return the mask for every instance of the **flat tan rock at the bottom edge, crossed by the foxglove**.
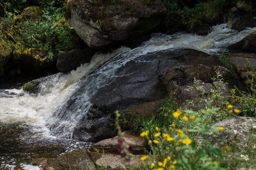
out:
M106 166L109 170L125 170L125 163L121 160L120 155L101 154L97 152L88 153L96 166ZM131 163L134 164L136 170L141 170L145 166L145 161L140 158L143 155L133 155ZM122 166L123 165L123 166Z

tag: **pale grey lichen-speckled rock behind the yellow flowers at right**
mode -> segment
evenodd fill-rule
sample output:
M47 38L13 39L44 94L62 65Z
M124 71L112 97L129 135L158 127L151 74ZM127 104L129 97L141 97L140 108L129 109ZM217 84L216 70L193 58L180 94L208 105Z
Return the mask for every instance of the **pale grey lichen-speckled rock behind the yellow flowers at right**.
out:
M256 118L255 117L233 117L231 119L226 119L220 121L214 126L222 126L224 130L220 133L216 131L208 132L209 137L205 140L205 137L199 136L196 140L202 144L209 143L213 144L215 147L222 148L225 146L236 146L236 152L242 153L247 147L248 135L255 134L256 132ZM252 135L253 137L253 135ZM250 139L252 141L254 139ZM250 146L252 150L255 150L256 146Z

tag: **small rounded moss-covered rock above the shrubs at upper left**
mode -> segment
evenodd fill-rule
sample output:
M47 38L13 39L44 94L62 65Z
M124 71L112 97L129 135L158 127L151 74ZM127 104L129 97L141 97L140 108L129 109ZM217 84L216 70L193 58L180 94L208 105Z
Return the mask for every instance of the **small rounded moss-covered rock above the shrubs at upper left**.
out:
M43 7L27 7L23 9L22 20L35 20L43 15Z

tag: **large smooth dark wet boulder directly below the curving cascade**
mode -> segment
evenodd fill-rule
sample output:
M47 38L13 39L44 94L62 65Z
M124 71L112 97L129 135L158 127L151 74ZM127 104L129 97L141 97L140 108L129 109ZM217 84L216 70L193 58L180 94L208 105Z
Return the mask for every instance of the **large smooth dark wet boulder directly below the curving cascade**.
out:
M211 83L211 77L216 75L215 71L220 71L226 81L236 81L237 77L233 72L222 66L216 57L193 49L148 53L140 56L139 61L126 62L112 75L115 78L109 84L97 89L91 96L92 108L88 113L91 118L85 118L75 128L73 138L95 142L114 137L116 133L112 131L114 127L110 124L111 114L115 110L130 108L132 111L131 108L137 106L149 108L146 104L160 101L166 95L182 95L181 91L172 90L173 86L169 81L176 81L176 87L187 87L189 84L182 81L193 77L202 79L204 83ZM171 71L173 75L168 73ZM83 87L74 96L81 93ZM67 106L72 108L75 100L76 97L67 100Z

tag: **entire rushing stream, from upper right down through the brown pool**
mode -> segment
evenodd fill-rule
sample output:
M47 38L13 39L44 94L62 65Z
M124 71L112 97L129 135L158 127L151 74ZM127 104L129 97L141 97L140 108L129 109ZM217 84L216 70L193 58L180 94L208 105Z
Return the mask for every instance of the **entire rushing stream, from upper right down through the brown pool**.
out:
M190 48L215 54L256 31L255 27L237 32L225 25L213 26L207 36L155 33L135 49L121 47L112 53L95 54L90 63L75 71L45 77L36 96L22 89L0 90L0 169L39 170L26 164L28 160L54 157L90 145L72 140L73 129L91 107L90 96L109 84L115 71L126 62L165 49ZM83 93L78 93L81 87ZM72 106L67 106L67 99L74 99Z

